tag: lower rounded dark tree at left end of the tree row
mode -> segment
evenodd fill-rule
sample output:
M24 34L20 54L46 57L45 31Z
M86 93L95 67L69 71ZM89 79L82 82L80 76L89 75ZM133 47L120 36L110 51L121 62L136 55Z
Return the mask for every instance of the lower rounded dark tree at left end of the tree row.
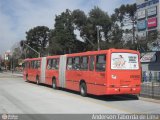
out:
M26 32L26 44L40 52L41 56L47 54L46 47L49 39L49 28L46 26L37 26ZM27 49L27 52L31 54L29 57L37 56L32 50Z

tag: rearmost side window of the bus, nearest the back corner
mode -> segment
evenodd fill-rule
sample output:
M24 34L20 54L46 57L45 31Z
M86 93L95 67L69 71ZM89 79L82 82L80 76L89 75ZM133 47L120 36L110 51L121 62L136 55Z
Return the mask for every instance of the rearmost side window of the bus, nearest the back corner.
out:
M106 55L96 56L96 71L105 71L106 69Z

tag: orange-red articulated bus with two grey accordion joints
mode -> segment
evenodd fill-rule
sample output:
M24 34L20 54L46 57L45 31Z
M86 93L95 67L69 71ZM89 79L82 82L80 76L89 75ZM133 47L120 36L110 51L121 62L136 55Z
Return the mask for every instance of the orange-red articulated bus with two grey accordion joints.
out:
M37 67L33 67L33 61ZM82 96L134 94L141 90L138 51L109 49L25 60L24 79L79 91Z

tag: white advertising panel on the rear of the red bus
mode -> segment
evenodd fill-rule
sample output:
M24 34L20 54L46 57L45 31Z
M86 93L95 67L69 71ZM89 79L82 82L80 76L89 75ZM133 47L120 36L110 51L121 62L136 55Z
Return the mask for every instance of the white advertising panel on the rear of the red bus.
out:
M114 70L138 70L138 55L133 53L112 53L111 69Z

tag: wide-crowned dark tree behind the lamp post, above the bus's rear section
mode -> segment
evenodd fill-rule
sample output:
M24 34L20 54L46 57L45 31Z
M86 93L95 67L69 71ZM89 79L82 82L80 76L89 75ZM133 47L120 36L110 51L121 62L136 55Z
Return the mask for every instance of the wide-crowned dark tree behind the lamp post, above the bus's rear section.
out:
M99 7L94 7L89 12L88 17L81 10L74 10L72 16L75 29L78 29L80 36L84 38L86 50L97 50L97 26L102 28L101 32L103 32L103 36L100 37L103 37L104 41L108 41L111 19ZM101 42L103 41L101 40Z

